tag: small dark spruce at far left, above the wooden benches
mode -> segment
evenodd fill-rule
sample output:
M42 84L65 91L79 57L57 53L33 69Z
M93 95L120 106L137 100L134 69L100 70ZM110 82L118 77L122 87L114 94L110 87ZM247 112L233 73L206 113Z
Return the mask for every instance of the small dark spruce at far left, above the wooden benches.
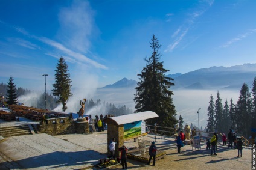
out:
M8 85L7 85L7 101L6 103L8 105L15 105L18 103L18 94L17 94L17 89L16 89L16 85L13 82L13 77L10 76Z

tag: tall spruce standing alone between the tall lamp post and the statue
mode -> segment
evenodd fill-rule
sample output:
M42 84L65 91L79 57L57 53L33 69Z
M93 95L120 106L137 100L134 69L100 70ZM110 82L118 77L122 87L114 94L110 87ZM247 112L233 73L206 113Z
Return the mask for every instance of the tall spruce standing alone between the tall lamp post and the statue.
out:
M57 66L56 66L56 74L55 74L55 83L53 84L53 96L59 97L57 103L62 103L62 111L66 111L68 107L66 106L66 102L69 97L72 96L71 93L71 79L69 79L70 74L68 73L68 64L66 64L65 59L61 56Z

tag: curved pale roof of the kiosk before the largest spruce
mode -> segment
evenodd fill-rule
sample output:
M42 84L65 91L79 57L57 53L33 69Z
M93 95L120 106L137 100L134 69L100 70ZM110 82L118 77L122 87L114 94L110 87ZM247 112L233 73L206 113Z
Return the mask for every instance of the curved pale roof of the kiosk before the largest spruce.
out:
M135 121L155 118L155 117L158 117L158 115L155 112L146 111L146 112L138 112L138 113L129 114L129 115L121 115L118 117L106 118L104 119L104 123L120 125L120 124L126 124L126 123L135 122Z

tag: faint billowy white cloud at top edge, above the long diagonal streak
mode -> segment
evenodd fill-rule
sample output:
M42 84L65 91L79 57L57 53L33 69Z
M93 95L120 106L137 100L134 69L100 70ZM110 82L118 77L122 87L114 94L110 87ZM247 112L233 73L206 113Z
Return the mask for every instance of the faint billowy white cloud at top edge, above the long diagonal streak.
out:
M82 52L91 46L89 38L97 34L94 23L95 12L87 1L73 1L71 7L62 8L59 13L59 37L63 44Z

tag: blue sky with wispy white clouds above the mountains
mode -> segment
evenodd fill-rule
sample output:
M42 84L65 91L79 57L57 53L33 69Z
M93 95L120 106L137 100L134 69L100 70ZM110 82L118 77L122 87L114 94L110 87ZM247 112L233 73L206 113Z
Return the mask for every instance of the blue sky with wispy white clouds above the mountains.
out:
M52 89L60 56L73 87L138 80L154 34L168 74L256 63L256 1L0 1L0 81Z

